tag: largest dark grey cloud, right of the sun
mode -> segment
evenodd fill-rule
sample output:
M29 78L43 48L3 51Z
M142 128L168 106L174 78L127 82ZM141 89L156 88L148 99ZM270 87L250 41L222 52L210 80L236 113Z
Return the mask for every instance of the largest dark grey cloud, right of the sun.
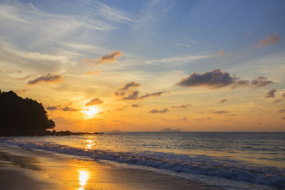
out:
M231 85L236 80L226 71L219 69L211 70L206 73L192 73L188 78L182 78L176 85L180 86L207 86L209 88L222 88Z

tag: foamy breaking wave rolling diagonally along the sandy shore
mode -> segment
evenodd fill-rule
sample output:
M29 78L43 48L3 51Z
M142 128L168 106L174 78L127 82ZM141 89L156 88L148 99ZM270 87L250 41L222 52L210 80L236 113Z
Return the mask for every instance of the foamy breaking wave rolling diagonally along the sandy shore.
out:
M189 157L184 154L163 152L110 152L100 149L81 149L53 142L26 142L19 139L1 139L3 143L29 149L43 149L61 154L89 157L91 159L105 159L115 162L136 164L157 169L185 172L190 174L204 174L219 176L226 179L248 181L255 184L265 184L285 187L285 171L274 167L251 167L245 164L219 162L211 157Z

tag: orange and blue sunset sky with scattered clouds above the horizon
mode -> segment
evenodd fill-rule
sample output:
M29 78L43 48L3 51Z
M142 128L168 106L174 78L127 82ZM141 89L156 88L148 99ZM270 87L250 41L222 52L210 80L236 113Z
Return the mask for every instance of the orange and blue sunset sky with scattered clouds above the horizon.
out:
M285 132L285 1L0 1L0 89L56 130Z

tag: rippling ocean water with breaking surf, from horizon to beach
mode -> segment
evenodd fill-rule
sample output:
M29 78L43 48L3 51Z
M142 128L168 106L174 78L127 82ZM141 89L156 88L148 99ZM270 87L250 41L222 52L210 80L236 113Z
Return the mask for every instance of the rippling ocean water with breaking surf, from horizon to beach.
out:
M156 169L226 189L285 189L285 133L113 132L0 142Z

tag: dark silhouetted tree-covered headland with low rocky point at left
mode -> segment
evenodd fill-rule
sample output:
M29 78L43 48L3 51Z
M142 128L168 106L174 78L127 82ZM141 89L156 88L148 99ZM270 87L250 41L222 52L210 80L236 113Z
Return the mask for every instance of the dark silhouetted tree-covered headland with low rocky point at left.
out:
M19 97L13 91L0 90L0 137L101 134L88 132L70 132L56 130L55 122L48 118L43 104L28 97Z

